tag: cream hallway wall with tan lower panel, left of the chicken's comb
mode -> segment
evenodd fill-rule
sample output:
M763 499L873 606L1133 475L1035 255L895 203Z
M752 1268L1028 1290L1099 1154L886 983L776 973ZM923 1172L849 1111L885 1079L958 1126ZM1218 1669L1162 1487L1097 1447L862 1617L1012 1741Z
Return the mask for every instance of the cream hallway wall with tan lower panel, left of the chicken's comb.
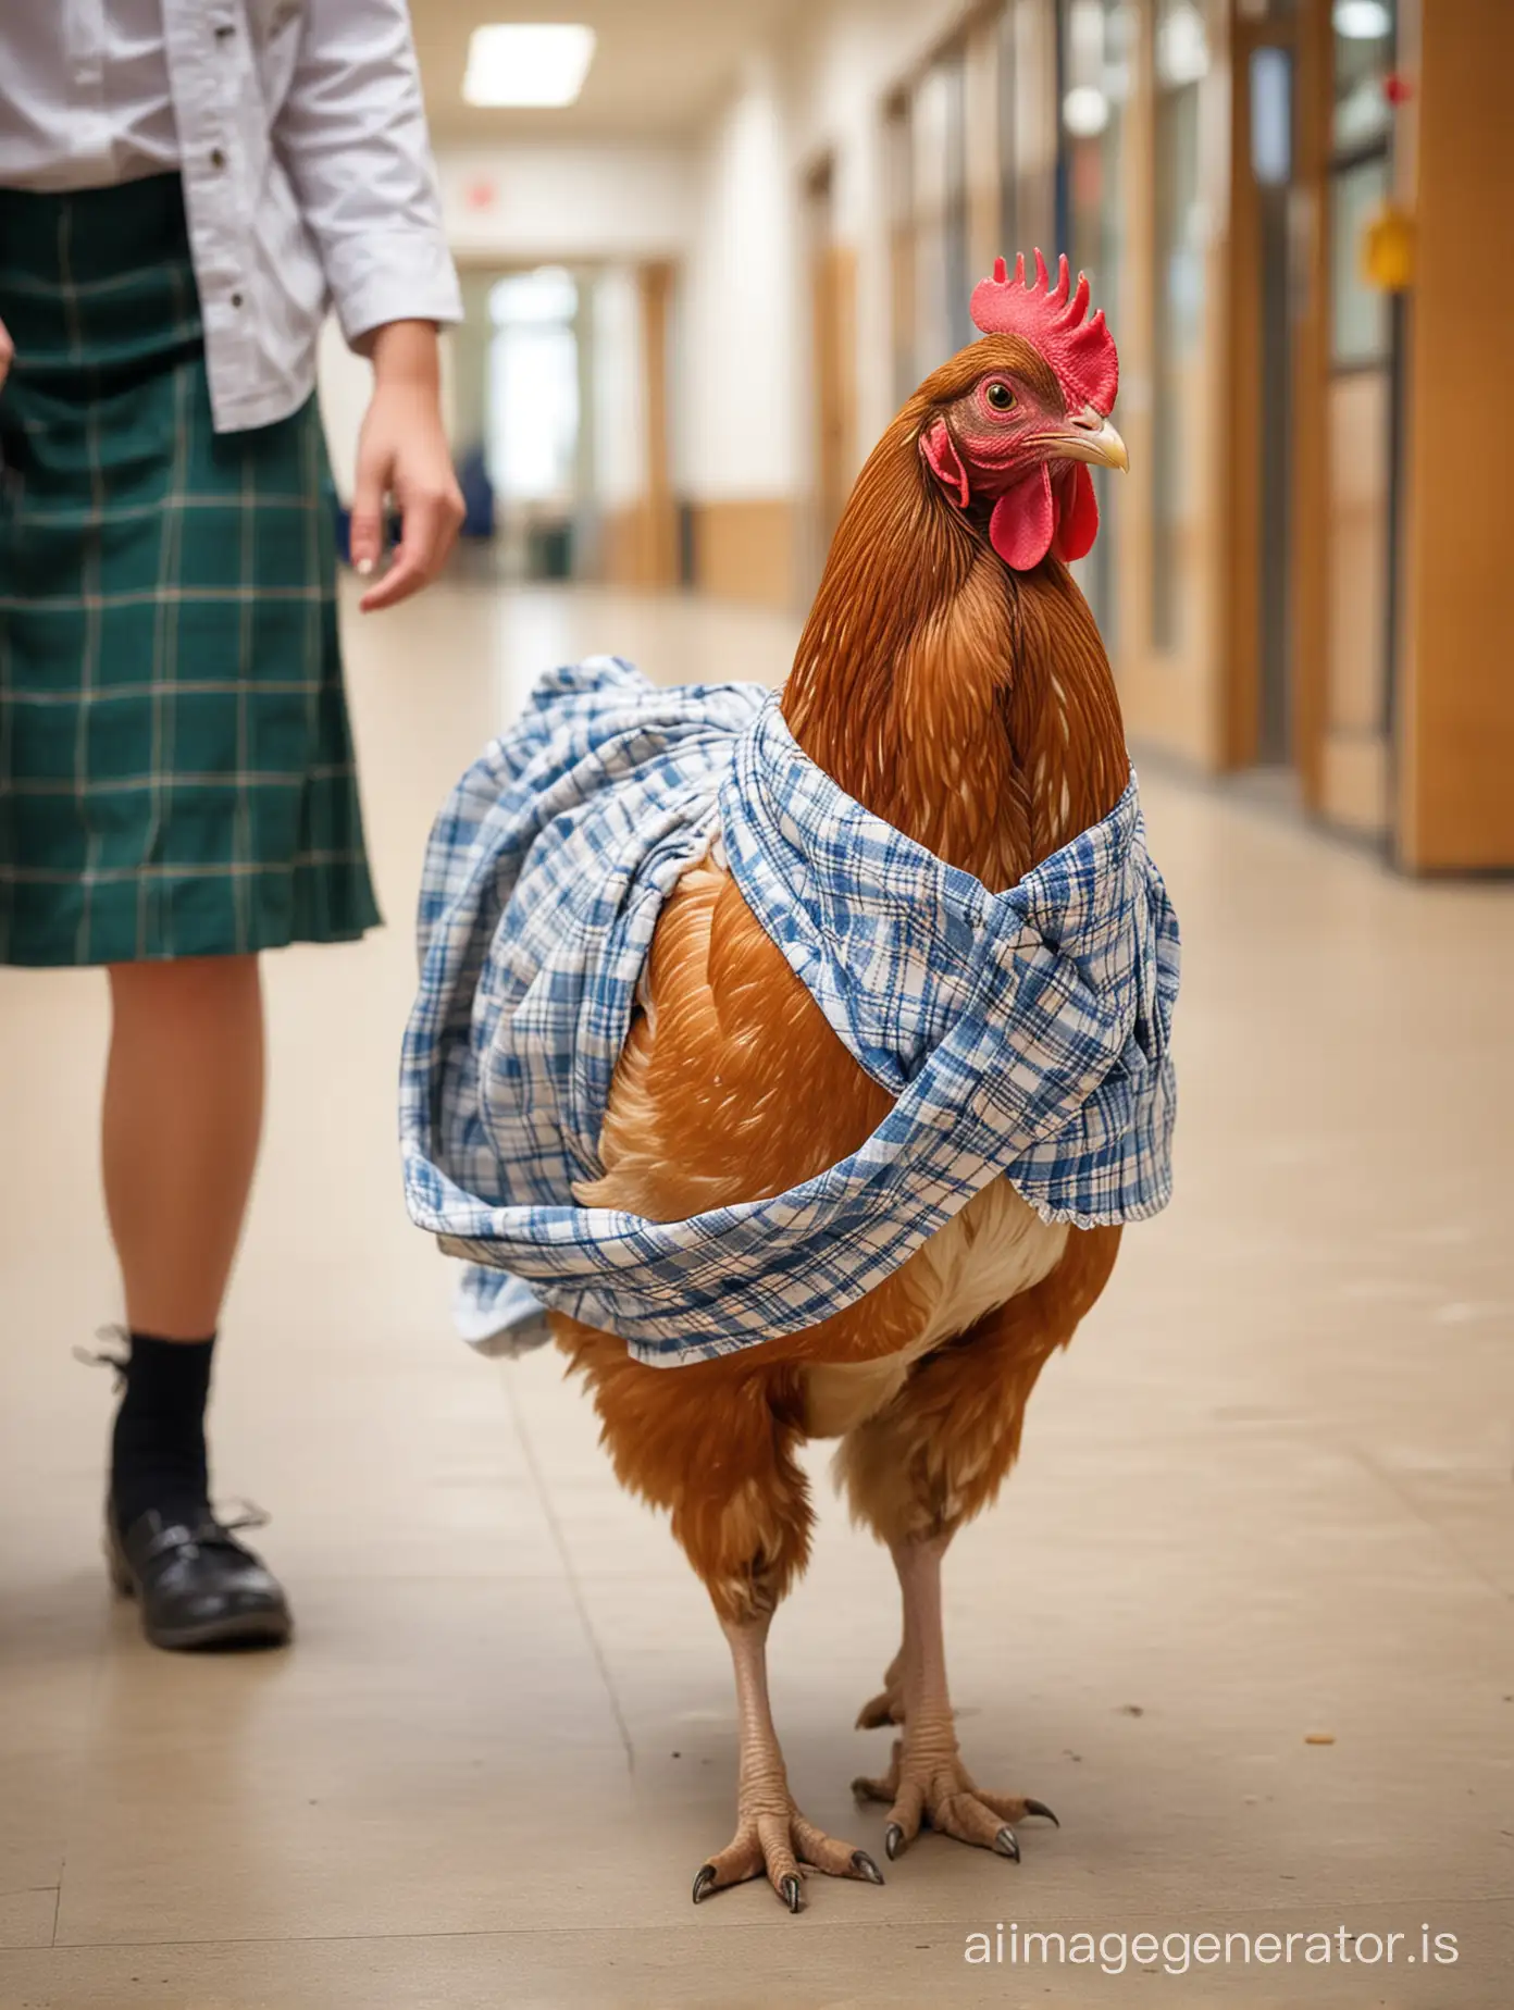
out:
M752 54L698 153L672 408L696 577L716 595L796 607L812 585L802 189L826 157L834 231L857 251L855 466L893 418L881 105L961 12L961 0L816 10Z

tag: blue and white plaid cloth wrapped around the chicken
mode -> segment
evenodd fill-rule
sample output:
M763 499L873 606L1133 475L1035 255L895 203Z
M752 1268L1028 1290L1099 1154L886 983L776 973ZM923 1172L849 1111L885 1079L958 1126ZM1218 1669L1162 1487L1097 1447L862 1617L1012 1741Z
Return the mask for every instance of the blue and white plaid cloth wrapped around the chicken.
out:
M895 1097L840 1164L772 1200L649 1222L573 1202L657 915L720 842L746 902ZM659 1365L853 1304L1007 1176L1054 1222L1170 1194L1178 927L1120 802L991 894L846 796L754 685L557 669L430 838L400 1132L412 1220L472 1260L475 1343L543 1304Z

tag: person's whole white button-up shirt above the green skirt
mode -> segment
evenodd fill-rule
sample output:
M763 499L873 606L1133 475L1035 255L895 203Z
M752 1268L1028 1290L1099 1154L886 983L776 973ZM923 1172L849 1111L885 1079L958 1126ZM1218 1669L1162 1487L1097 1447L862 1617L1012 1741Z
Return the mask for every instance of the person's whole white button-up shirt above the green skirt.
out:
M0 8L0 203L175 167L217 430L304 404L328 297L460 320L404 0Z

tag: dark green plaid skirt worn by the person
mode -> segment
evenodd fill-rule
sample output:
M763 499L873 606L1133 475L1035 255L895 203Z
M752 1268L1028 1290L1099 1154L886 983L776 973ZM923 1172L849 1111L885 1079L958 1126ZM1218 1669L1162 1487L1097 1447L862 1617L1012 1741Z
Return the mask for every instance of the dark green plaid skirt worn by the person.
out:
M177 175L0 189L0 963L350 941L316 400L215 434Z

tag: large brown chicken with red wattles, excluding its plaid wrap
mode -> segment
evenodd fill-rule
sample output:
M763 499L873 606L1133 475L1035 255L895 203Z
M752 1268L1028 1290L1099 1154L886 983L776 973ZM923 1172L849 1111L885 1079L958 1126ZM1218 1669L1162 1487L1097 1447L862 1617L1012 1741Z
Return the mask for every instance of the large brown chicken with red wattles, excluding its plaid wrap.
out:
M1082 324L1082 287L1078 304ZM989 334L921 384L859 476L782 695L842 790L991 890L1104 818L1128 778L1108 659L1064 563L1096 527L1088 462L1126 464L1112 366L1096 378L1050 324L1046 342ZM1096 404L1084 392L1100 384ZM857 1150L887 1108L730 874L704 862L657 925L605 1172L579 1198L682 1220L780 1194ZM887 1779L857 1783L889 1803L889 1855L929 1823L1017 1857L1013 1825L1050 1813L977 1787L961 1761L941 1558L999 1491L1035 1377L1118 1242L1118 1228L1044 1222L997 1180L848 1311L714 1361L645 1367L553 1315L619 1479L670 1510L732 1648L738 1821L696 1901L764 1873L792 1909L806 1869L881 1881L796 1807L768 1706L768 1626L810 1542L806 1437L840 1439L853 1516L903 1590L903 1644L861 1715L901 1737Z

